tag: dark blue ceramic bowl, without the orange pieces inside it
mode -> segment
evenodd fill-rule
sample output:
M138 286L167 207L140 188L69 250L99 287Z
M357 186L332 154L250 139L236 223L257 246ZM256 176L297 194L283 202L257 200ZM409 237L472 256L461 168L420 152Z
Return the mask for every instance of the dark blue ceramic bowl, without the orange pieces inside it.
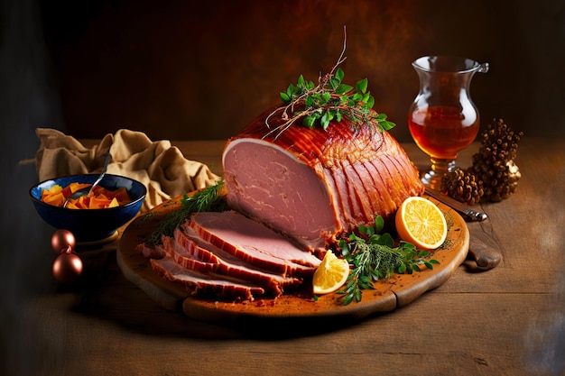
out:
M69 230L75 235L77 242L96 242L106 239L116 234L119 227L125 225L139 212L147 194L147 189L139 181L106 174L100 182L101 187L110 190L125 188L132 202L124 206L106 209L68 209L52 206L41 200L42 189L49 189L54 185L65 188L72 182L92 184L97 177L98 174L72 175L42 181L30 188L33 206L43 221L56 229Z

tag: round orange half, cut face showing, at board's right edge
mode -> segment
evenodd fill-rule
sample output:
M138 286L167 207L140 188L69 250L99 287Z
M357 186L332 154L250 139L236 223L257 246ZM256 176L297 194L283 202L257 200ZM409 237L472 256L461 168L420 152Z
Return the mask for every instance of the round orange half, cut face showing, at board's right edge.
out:
M448 235L440 208L424 197L406 198L396 212L395 224L404 242L424 250L438 248Z

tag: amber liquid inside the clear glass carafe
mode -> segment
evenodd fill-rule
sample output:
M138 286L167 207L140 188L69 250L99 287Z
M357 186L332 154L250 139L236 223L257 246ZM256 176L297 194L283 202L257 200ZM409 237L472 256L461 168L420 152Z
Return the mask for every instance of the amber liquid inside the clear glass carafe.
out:
M475 111L466 118L455 107L421 107L408 116L408 128L422 151L449 160L475 140L479 118Z

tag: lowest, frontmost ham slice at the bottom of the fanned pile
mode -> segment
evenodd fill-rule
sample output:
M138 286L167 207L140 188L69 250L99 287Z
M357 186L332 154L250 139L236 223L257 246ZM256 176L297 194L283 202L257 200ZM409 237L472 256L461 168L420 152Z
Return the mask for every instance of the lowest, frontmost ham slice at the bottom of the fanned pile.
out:
M154 271L162 274L167 280L182 283L191 295L244 300L253 300L264 295L264 289L253 283L192 271L183 268L168 255L162 259L151 259L150 262Z

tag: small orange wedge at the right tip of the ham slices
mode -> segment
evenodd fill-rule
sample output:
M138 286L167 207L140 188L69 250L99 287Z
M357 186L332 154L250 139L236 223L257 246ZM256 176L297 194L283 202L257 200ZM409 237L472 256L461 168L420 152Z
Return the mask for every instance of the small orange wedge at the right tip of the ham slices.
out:
M312 285L314 294L329 294L346 283L349 276L349 263L328 251L314 272Z

